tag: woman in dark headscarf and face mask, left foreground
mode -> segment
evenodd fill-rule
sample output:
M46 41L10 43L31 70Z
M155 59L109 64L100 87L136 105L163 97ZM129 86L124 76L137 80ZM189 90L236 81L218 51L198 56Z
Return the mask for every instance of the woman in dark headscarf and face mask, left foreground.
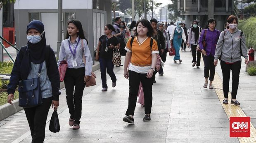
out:
M50 106L59 106L59 71L55 53L46 45L44 25L34 20L27 25L26 46L21 47L12 69L10 82L7 85L9 104L12 104L14 92L19 81L38 77L40 73L40 88L43 103L32 108L24 108L31 131L32 143L43 143L45 125Z

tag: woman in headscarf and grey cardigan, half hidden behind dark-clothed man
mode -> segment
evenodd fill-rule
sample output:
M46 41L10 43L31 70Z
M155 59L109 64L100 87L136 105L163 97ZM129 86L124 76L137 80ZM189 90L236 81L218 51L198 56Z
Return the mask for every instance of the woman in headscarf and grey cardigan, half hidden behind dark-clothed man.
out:
M165 39L165 49L164 49L164 53L161 54L160 53L160 57L163 60L163 62L166 61L166 53L168 52L168 49L171 48L171 44L170 44L170 40L169 40L169 36L168 36L168 32L166 32L166 30L163 29L163 23L159 22L157 23L157 29L161 30L161 32L163 32L164 35L164 39ZM164 74L164 70L163 67L160 67L158 74L160 76L163 76Z

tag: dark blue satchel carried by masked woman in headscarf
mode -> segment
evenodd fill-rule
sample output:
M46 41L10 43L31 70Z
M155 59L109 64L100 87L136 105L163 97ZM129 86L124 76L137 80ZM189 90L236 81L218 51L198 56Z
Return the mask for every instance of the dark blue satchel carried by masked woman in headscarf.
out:
M39 76L43 63L40 64L38 77L19 81L19 106L31 108L43 103Z

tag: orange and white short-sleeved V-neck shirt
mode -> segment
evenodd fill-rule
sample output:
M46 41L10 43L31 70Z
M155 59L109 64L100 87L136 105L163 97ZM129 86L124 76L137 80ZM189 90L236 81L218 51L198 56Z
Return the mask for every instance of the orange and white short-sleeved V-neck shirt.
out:
M150 37L147 37L142 43L139 43L136 36L132 46L129 41L125 47L126 51L132 53L129 70L146 74L151 68L152 54L159 53L156 40L153 39L152 49L150 47Z

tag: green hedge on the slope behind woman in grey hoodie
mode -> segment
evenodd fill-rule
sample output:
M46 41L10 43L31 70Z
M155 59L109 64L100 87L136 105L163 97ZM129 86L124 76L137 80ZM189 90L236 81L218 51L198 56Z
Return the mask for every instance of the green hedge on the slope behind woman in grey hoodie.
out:
M238 29L244 32L246 38L246 46L256 48L256 17L250 17L246 20L239 21Z

